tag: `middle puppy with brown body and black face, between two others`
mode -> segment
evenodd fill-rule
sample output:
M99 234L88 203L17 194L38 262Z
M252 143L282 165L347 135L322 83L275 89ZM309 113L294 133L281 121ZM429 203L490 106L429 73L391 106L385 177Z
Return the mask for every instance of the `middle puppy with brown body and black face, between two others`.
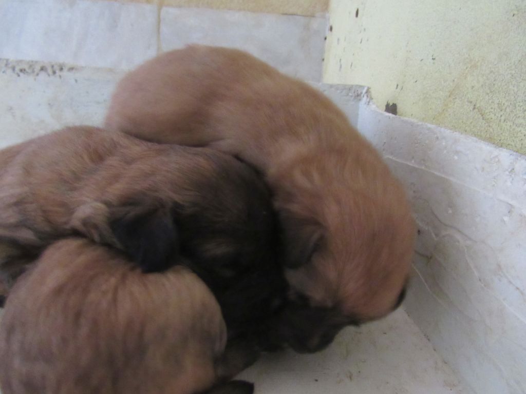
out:
M286 283L270 196L247 165L90 127L7 148L0 164L7 287L45 246L82 234L125 251L144 272L185 256L216 295L229 339L266 340Z

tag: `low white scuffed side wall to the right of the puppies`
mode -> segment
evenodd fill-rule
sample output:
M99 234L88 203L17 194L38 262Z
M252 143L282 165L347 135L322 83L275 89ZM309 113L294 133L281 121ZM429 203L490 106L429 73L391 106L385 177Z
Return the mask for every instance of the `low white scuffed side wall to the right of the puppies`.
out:
M406 185L419 225L409 316L474 392L526 392L526 157L323 87ZM356 108L359 102L358 109Z

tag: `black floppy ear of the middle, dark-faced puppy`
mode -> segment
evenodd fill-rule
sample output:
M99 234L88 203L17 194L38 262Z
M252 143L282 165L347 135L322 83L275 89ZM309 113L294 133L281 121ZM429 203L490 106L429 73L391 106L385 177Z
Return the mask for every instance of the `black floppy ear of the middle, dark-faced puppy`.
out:
M132 205L109 208L109 218L115 239L143 272L164 271L176 264L179 236L173 210Z

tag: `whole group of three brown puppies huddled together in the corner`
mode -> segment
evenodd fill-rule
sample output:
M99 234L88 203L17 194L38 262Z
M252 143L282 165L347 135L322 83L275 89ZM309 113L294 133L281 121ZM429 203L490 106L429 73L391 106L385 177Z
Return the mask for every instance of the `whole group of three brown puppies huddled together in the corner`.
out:
M267 186L268 185L268 186ZM325 96L234 49L130 71L104 129L0 151L3 394L250 393L403 300L416 229Z

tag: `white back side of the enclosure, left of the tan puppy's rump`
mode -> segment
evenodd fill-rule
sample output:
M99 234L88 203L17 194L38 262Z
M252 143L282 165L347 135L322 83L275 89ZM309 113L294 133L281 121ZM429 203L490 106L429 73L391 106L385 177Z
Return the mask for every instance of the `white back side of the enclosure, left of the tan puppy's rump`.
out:
M0 148L70 125L100 126L123 72L0 59Z

